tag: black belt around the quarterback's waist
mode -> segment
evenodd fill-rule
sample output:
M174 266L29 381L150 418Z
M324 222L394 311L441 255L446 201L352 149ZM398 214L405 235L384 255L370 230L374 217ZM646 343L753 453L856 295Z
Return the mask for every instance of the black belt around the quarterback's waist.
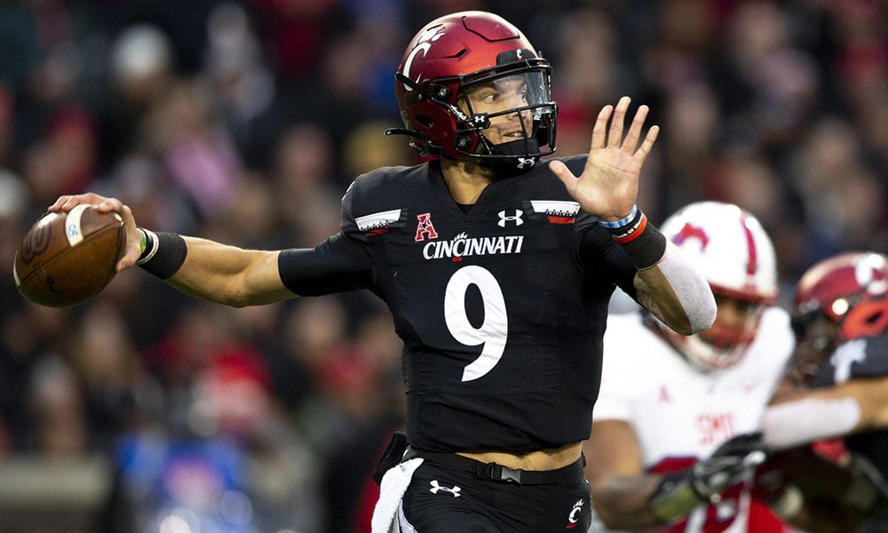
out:
M497 463L482 463L469 457L456 455L455 453L439 453L408 447L407 451L404 452L404 460L406 461L414 457L422 457L432 463L453 466L454 468L474 473L482 480L511 481L521 485L557 483L567 477L583 473L583 467L586 465L586 457L580 454L580 458L570 465L562 466L555 470L521 470L520 468L509 468Z

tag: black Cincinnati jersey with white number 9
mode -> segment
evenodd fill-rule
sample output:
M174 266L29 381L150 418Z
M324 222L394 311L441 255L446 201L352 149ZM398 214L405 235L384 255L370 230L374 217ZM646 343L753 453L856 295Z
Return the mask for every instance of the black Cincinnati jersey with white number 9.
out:
M563 159L578 175L584 156ZM635 267L541 164L468 209L437 162L356 179L342 228L281 253L303 296L365 288L404 341L408 437L420 449L550 449L589 436L607 305Z

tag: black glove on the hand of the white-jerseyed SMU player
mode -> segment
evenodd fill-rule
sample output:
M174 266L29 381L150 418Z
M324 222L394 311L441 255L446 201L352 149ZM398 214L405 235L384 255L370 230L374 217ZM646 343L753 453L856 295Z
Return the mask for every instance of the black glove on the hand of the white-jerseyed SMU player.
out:
M664 475L647 504L663 522L678 521L697 505L718 503L725 489L749 477L766 458L761 433L734 436L709 458L682 472Z

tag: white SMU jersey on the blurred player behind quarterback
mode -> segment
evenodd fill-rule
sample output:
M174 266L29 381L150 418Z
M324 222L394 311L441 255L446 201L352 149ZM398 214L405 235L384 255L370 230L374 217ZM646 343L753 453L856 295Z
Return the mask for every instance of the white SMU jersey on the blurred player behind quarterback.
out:
M612 314L593 420L628 422L647 470L678 471L709 457L734 435L761 428L765 405L794 344L789 314L774 306L763 314L757 338L741 362L703 373L648 329L640 314ZM679 528L669 530L701 532L709 521L708 533L746 533L749 494L736 492L736 497L725 493L710 508L701 505Z

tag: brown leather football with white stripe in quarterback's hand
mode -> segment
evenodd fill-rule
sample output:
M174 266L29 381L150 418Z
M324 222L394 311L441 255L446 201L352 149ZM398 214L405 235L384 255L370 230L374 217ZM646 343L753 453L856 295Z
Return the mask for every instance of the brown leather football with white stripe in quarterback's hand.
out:
M16 287L41 306L82 304L114 278L125 243L123 219L117 213L102 213L87 204L67 213L46 213L16 251Z

